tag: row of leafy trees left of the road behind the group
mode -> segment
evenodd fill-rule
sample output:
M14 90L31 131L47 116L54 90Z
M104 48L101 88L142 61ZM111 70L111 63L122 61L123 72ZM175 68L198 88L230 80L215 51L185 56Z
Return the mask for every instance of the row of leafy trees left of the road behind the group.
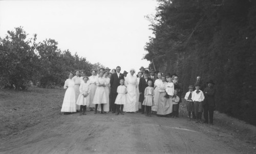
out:
M0 38L0 88L27 89L32 84L51 88L63 85L70 71L83 69L90 75L91 69L102 66L61 51L53 39L36 43L36 34L27 38L22 27L7 33Z

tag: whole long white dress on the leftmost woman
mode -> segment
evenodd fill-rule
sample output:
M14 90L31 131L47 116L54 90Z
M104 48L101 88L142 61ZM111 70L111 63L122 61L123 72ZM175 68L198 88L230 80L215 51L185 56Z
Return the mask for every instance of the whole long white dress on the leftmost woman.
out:
M68 89L65 92L61 112L76 112L76 94L75 94L75 82L71 79L65 81L64 89Z

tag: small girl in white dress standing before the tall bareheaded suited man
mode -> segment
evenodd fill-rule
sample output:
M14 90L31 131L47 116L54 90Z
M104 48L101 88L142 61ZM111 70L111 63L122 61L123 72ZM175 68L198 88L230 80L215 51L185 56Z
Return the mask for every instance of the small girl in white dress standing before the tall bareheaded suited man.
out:
M123 105L126 104L127 89L124 86L123 79L120 80L120 86L117 87L117 93L118 93L118 95L117 95L116 101L115 101L116 109L117 109L116 115L119 114L120 106L121 106L121 114L124 115L123 114Z

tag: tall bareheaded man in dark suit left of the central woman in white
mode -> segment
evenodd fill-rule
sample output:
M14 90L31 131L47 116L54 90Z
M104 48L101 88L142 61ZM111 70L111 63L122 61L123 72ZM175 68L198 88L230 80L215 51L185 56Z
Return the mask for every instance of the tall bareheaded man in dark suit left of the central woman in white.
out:
M112 110L112 113L116 113L116 97L117 97L117 87L120 85L120 80L124 80L124 76L122 73L120 73L121 67L116 67L116 73L113 73L110 78L110 110Z

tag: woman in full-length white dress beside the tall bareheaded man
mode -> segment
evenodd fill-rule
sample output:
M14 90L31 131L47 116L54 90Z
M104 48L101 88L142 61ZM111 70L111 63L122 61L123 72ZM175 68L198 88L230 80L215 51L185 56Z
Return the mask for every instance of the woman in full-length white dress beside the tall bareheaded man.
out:
M136 86L137 76L134 74L135 69L131 69L130 73L125 77L125 86L127 87L126 104L123 106L124 112L137 113L137 98L136 98Z

